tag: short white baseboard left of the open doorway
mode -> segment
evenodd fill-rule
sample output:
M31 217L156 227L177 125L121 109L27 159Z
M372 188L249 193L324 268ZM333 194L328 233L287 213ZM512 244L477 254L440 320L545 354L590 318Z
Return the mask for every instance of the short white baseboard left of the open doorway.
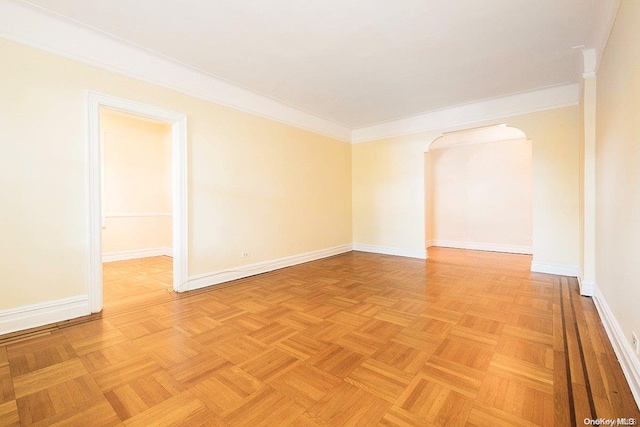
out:
M0 311L0 335L91 314L88 295Z

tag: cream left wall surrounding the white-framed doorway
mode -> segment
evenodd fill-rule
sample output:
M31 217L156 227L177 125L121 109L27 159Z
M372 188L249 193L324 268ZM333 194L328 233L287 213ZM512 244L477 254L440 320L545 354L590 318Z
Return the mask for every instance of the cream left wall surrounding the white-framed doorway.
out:
M0 57L0 310L87 294L87 90L188 115L189 275L351 243L348 143L12 42Z

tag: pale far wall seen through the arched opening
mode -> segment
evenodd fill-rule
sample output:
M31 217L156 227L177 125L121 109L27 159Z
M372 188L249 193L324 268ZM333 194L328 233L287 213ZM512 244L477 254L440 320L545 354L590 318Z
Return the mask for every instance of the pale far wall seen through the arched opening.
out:
M531 141L454 146L429 155L436 245L531 247Z

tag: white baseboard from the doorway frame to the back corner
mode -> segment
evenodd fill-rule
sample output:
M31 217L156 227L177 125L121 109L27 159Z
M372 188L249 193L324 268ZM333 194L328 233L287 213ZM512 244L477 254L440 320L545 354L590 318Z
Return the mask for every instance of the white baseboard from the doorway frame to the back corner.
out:
M218 285L232 280L244 279L256 274L267 273L285 267L291 267L309 261L315 261L345 252L351 252L352 245L334 246L332 248L320 249L298 255L291 255L271 261L257 262L255 264L242 265L236 268L220 270L211 273L200 274L189 277L186 283L178 288L178 292L193 291L195 289L206 288L207 286Z

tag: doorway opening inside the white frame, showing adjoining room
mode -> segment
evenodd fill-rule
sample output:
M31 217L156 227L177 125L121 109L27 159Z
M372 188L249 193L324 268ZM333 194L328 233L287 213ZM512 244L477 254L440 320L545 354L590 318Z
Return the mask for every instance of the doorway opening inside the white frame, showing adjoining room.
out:
M110 311L173 288L171 125L100 109L102 277Z

